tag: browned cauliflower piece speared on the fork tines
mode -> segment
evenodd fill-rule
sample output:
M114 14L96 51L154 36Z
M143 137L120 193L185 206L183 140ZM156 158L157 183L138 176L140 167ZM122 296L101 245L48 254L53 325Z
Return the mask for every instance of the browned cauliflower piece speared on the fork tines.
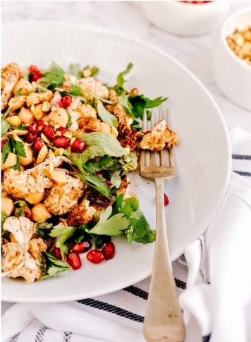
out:
M160 151L164 147L171 149L178 144L177 133L167 128L165 120L160 120L152 129L139 133L139 147L143 150Z

